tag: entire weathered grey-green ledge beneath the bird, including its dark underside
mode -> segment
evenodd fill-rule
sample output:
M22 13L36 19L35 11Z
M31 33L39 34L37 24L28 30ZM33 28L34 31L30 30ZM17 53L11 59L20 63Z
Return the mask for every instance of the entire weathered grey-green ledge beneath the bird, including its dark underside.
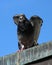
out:
M47 59L48 58L48 59ZM45 60L46 59L46 60ZM49 63L48 63L49 62ZM30 64L28 64L30 63ZM52 42L0 58L0 65L52 65Z

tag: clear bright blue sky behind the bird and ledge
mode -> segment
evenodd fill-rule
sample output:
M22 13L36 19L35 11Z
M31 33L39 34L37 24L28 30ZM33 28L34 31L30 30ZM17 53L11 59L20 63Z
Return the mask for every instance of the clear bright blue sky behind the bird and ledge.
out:
M18 50L18 37L13 16L25 14L29 19L38 15L43 19L38 43L52 41L52 0L0 0L0 56Z

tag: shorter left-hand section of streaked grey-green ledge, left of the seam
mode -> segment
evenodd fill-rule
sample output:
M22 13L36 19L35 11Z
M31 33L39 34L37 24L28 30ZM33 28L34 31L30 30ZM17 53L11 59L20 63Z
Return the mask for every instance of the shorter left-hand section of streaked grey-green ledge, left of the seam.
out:
M18 54L10 54L0 58L0 65L16 65L18 59Z

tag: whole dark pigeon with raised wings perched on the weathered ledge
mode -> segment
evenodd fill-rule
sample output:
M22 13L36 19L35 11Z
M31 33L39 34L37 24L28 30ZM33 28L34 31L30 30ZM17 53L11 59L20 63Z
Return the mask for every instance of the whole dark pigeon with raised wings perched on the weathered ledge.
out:
M28 20L24 14L18 14L13 16L13 20L17 25L19 50L22 51L37 46L37 40L43 23L42 18L34 15Z

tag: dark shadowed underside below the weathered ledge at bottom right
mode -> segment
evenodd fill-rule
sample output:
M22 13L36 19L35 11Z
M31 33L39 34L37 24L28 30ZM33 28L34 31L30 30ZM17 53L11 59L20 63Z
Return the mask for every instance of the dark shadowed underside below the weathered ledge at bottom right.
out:
M25 65L52 65L52 56L25 64Z

